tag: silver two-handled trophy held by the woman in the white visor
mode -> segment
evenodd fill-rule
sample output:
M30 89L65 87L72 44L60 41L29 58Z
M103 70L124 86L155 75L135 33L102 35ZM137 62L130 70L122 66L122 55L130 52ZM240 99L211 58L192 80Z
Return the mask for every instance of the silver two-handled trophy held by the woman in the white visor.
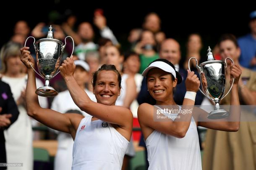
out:
M208 53L207 53L207 61L199 64L197 64L197 60L194 57L191 57L188 60L188 69L190 70L190 60L193 58L196 60L196 68L199 71L200 75L200 81L201 81L201 86L202 90L199 89L204 96L206 96L208 99L214 102L215 104L215 109L208 114L209 119L222 119L225 117L229 116L229 112L227 112L224 109L220 109L219 107L219 101L222 100L227 94L230 92L233 83L227 92L225 94L225 86L226 86L226 75L225 75L225 69L227 68L227 59L231 58L226 58L225 62L221 60L215 60L212 50L210 47L208 47ZM232 61L232 63L234 63Z

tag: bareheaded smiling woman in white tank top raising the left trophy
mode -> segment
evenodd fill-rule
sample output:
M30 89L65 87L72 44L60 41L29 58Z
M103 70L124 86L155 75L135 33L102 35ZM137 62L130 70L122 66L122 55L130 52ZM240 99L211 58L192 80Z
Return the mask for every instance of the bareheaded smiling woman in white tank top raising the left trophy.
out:
M21 48L21 61L28 69L26 104L29 116L52 129L70 133L74 140L73 170L120 170L132 132L133 115L129 109L115 106L120 95L121 76L113 65L103 65L93 76L93 93L97 103L89 99L73 77L75 65L67 58L60 73L76 105L90 116L61 114L39 106L34 93L34 59L28 47ZM29 64L31 63L31 65Z

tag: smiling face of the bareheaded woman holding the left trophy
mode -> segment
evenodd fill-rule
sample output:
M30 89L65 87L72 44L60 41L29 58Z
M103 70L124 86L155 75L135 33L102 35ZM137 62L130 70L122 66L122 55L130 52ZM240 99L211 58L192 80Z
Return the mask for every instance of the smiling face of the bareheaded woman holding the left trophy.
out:
M98 73L93 93L98 103L110 106L115 105L115 101L120 95L120 89L117 73L102 70Z

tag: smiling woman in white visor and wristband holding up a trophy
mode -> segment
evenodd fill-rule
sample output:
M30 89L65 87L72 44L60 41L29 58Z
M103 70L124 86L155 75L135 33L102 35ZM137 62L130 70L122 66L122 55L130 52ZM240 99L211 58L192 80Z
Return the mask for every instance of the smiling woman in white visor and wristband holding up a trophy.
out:
M239 106L240 74L238 65L231 66L230 79L235 80L230 103L236 106ZM178 106L173 99L173 89L182 81L182 78L175 71L172 63L165 59L157 59L144 70L142 75L146 76L148 91L157 104L153 106L144 103L138 108L138 120L148 151L149 170L200 170L201 154L196 126L237 131L239 122L225 122L226 119L209 122L207 112L193 107L196 91L199 90L200 85L199 78L193 71L188 71L185 80L187 92L182 107ZM178 110L178 112L170 114L168 110ZM240 117L239 109L231 109L230 113L228 119ZM198 120L204 120L204 122Z

